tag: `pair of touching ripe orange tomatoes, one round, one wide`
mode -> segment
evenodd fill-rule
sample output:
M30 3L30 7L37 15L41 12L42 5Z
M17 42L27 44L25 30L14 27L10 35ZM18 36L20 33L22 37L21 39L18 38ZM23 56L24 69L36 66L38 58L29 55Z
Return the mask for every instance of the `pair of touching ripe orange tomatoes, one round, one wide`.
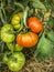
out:
M43 28L42 21L35 17L30 17L28 19L28 25L32 32L18 34L17 37L17 43L24 48L31 48L37 43L39 37L35 33L40 33Z

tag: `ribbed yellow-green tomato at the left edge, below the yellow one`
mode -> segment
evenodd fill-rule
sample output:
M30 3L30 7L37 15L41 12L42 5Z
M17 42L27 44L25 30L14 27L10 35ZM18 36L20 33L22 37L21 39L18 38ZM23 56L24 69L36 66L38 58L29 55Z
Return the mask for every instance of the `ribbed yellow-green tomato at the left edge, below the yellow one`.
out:
M1 39L4 42L12 42L15 38L13 31L13 27L11 24L6 24L1 28Z

